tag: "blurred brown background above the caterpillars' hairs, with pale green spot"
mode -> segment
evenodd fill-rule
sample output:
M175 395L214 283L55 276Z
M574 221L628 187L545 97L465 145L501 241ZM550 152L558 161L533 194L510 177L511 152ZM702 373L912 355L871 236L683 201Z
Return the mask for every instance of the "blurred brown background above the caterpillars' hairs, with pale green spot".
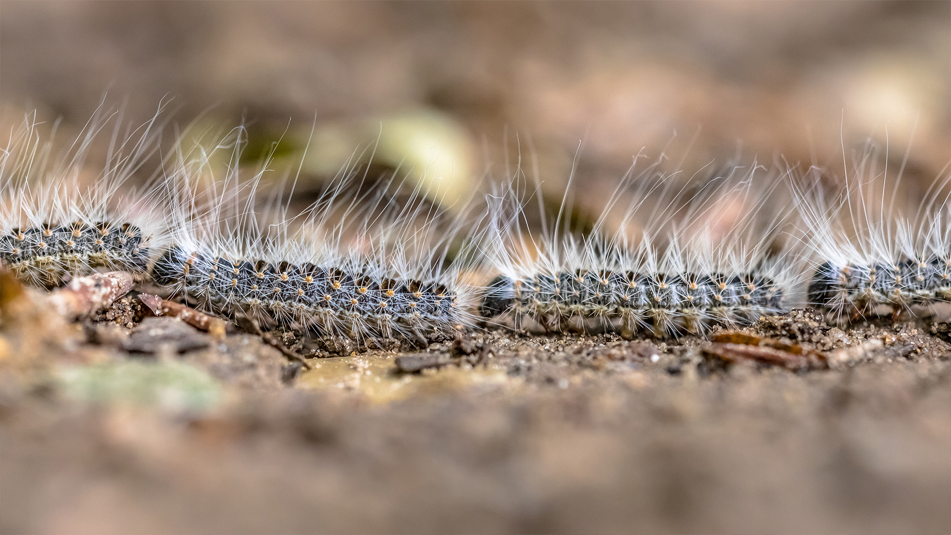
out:
M172 97L179 125L244 123L249 161L281 138L276 166L313 130L304 193L377 140L377 166L452 200L519 155L560 196L577 153L600 200L642 149L842 168L886 136L923 190L951 160L951 4L0 4L5 126L78 129L106 92L130 121Z

